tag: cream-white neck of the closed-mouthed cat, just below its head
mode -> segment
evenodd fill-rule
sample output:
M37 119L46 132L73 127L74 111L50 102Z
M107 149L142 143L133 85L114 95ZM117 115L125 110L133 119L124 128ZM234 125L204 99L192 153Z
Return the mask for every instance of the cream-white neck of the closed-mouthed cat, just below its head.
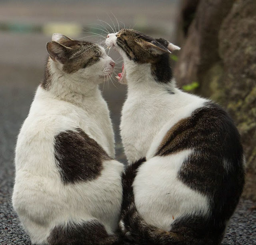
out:
M72 74L65 74L61 69L49 61L46 73L49 73L48 88L49 94L58 100L63 100L75 105L83 105L86 101L101 97L98 82L94 80L78 79Z

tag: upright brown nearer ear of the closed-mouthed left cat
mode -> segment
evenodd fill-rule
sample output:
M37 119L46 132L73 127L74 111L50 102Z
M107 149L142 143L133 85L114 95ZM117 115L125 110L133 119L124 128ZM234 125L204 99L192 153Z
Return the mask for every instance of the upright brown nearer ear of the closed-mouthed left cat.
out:
M46 44L46 49L50 58L55 62L60 62L65 64L68 62L68 57L72 48L66 47L58 42L48 42Z

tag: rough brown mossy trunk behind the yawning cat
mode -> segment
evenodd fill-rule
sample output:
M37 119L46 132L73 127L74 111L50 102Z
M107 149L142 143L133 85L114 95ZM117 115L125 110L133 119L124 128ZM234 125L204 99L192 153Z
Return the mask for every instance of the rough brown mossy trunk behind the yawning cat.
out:
M177 84L197 82L190 92L230 113L247 160L243 196L256 201L256 1L184 0L180 16L185 38L174 70Z

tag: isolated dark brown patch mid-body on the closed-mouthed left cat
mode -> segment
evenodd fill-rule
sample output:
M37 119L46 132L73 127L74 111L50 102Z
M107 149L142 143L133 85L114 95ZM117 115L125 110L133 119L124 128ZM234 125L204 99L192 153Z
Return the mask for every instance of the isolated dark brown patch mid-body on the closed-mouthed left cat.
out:
M54 156L64 184L96 179L102 161L110 160L104 149L80 128L55 136Z

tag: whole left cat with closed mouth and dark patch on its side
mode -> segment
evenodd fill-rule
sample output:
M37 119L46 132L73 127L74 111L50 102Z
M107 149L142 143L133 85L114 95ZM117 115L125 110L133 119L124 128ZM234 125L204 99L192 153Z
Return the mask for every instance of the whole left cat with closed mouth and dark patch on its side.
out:
M101 46L53 34L16 145L12 203L33 245L114 245L123 164L98 86L114 70Z

